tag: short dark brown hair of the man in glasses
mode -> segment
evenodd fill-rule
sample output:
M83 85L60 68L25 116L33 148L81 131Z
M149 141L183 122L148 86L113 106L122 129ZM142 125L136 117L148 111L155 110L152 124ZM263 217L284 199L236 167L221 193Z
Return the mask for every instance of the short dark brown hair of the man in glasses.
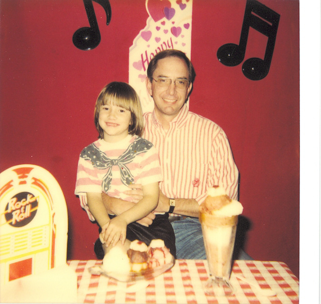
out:
M179 50L165 50L162 52L157 53L149 62L148 64L148 68L147 68L147 77L149 79L150 82L152 82L152 75L155 71L155 69L157 68L157 62L158 60L167 58L167 57L177 57L177 58L181 58L185 61L186 65L187 65L187 69L189 71L189 82L193 83L195 80L195 70L194 67L191 63L191 61L188 59L188 57L185 55L185 53L183 53L182 51Z

